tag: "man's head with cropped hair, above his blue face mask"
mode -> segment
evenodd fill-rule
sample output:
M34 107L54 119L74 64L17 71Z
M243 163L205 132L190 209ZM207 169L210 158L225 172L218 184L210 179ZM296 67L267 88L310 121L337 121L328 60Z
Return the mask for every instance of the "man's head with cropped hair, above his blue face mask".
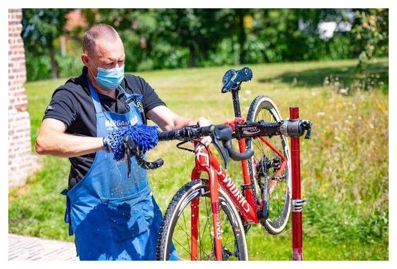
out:
M118 32L107 24L95 24L84 34L81 59L84 66L89 68L89 77L94 84L98 68L114 69L124 66L124 46Z

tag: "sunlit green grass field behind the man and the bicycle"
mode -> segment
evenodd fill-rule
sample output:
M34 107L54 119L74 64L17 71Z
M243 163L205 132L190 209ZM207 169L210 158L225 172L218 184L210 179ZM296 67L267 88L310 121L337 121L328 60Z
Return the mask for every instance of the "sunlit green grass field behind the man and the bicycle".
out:
M301 143L302 190L308 198L304 258L309 260L389 259L388 59L371 63L367 77L356 72L355 66L355 60L252 65L254 79L244 83L241 90L243 115L255 96L267 94L282 116L288 117L290 106L299 106L301 118L313 121L313 139ZM228 68L138 74L176 113L221 123L233 117L230 94L220 92L221 78ZM331 76L332 83L324 85L325 78ZM32 146L53 90L65 81L26 83ZM358 87L344 96L335 93L336 81L343 87L356 83L369 90ZM148 154L148 159L162 157L165 161L163 168L149 172L162 210L190 180L193 156L175 145L161 143ZM67 159L55 157L44 157L43 163L41 171L30 177L24 188L10 191L9 231L73 241L63 223L64 197L59 195L66 187L70 164ZM230 174L241 183L238 170L239 163L231 163ZM250 259L291 257L289 224L278 236L255 226L247 240Z

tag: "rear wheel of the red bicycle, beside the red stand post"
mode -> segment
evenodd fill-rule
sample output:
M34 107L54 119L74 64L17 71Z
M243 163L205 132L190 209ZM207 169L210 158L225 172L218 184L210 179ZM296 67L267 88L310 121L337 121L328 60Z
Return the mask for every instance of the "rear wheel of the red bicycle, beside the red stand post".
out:
M252 101L248 110L247 122L275 122L281 120L281 115L275 103L265 95L260 95ZM281 177L275 177L281 168L281 159L263 141L256 137L247 139L247 147L255 151L248 159L248 167L255 175L264 198L264 216L261 224L266 230L277 235L284 230L290 213L290 156L288 142L284 135L266 138L287 159L285 172Z

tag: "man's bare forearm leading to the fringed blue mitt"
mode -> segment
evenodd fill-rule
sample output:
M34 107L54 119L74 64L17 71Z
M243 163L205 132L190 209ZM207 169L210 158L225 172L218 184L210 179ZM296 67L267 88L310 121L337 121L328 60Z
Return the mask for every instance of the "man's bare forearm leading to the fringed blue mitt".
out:
M102 137L80 137L57 134L50 137L37 137L36 152L57 157L77 157L103 150Z

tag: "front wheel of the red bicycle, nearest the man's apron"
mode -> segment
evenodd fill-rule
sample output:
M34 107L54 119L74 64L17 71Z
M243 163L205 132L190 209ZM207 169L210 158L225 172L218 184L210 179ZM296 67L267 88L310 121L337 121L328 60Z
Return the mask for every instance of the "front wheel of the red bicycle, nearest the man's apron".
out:
M221 188L219 202L223 260L248 260L246 235L239 212ZM192 206L198 216L192 213ZM210 188L207 180L190 181L169 203L158 235L156 258L168 260L172 246L180 260L215 260ZM172 257L175 257L174 252L172 253Z

